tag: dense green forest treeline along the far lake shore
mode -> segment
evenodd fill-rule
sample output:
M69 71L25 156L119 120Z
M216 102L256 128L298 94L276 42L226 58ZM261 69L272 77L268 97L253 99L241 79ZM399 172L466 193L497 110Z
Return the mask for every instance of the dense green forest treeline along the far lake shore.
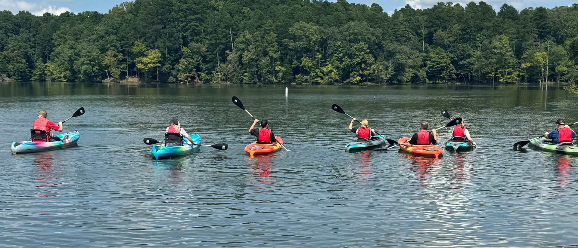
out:
M371 6L136 0L108 13L0 12L17 81L421 84L578 81L578 4Z

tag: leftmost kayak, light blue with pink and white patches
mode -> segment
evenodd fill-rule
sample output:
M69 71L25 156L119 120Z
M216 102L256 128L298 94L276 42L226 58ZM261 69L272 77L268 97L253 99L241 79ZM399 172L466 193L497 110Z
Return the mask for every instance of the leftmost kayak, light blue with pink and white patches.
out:
M64 136L68 134L68 138L65 140ZM80 138L79 131L71 131L70 133L63 133L55 137L61 138L62 141L51 141L51 142L32 142L32 141L21 141L12 142L10 151L12 153L29 153L29 152L44 152L55 149L61 149L75 145Z

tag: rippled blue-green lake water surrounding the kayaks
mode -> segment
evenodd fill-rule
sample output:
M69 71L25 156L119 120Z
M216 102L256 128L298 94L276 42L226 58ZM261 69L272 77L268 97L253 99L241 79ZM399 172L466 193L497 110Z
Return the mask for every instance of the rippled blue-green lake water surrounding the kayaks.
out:
M0 84L0 247L578 246L578 157L512 144L578 121L578 97L540 87ZM251 118L290 152L250 158ZM372 100L376 96L376 100ZM439 159L345 153L356 118L397 140L462 117L480 148ZM11 155L36 111L75 148ZM204 144L155 161L171 118ZM448 138L450 129L439 131Z

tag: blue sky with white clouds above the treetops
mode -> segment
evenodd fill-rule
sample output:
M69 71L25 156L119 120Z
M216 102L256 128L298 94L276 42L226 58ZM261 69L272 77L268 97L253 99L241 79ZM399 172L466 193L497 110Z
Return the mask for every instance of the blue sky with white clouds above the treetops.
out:
M479 2L476 0L475 2ZM118 5L121 2L119 0L0 0L0 10L10 10L13 14L18 13L20 10L28 10L32 14L42 15L45 12L50 12L53 14L61 14L64 12L83 12L86 10L98 11L101 13L108 13L108 10ZM438 2L448 2L448 0L348 0L347 2L353 3L365 3L366 5L372 5L372 3L377 3L383 7L384 12L393 13L395 9L399 9L406 4L411 5L416 9L427 9L435 5ZM466 3L470 1L451 1L453 3L460 3L465 6ZM525 7L555 7L562 5L572 5L572 3L578 2L578 0L486 0L484 1L492 6L495 10L499 10L499 7L503 3L507 3L516 7L517 10L522 10Z

